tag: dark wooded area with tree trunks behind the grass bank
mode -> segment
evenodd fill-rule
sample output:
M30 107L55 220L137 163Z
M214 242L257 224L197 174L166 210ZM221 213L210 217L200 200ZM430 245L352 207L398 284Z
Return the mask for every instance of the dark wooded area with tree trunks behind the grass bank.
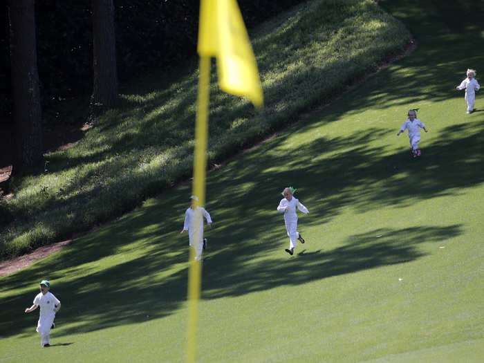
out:
M250 28L300 2L239 1L239 6ZM5 24L0 29L0 127L15 133L16 146L9 147L15 149L13 172L41 158L42 123L53 122L41 119L42 109L91 93L95 117L115 104L118 77L122 82L151 67L192 59L198 7L198 0L11 0L0 8ZM0 140L4 147L6 135Z

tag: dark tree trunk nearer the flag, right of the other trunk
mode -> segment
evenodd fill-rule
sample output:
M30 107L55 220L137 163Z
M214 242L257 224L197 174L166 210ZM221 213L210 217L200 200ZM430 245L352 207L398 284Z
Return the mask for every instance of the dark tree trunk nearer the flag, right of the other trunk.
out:
M118 98L113 0L93 0L93 72L91 118L96 118Z

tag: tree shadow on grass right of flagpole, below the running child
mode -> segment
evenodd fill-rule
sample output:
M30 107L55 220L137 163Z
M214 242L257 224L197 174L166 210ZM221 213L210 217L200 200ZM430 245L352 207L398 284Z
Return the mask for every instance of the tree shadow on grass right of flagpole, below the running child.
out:
M249 263L245 268L237 261L224 264L223 261L230 261L230 252L227 252L217 255L218 261L211 259L207 263L203 274L202 295L204 299L241 296L278 286L297 286L340 274L406 263L424 256L418 250L418 243L438 242L460 233L459 225L377 229L349 236L341 247L334 250L301 250L286 261L270 259ZM313 243L319 244L321 241L308 241L308 246ZM299 245L301 248L304 247Z

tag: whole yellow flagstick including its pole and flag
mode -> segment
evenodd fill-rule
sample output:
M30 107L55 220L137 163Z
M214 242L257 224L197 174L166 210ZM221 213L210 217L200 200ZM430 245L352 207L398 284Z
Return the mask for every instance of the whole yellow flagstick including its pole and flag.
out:
M257 63L236 0L201 0L198 54L200 77L195 125L193 194L198 196L196 206L203 207L207 169L210 57L217 59L219 83L223 91L248 97L255 106L263 106ZM203 239L198 227L203 223L201 210L196 209L194 216L192 241L199 243ZM196 245L193 247L197 248ZM194 261L194 248L190 249L188 272L187 362L196 361L198 300L201 295L202 266L201 261Z

